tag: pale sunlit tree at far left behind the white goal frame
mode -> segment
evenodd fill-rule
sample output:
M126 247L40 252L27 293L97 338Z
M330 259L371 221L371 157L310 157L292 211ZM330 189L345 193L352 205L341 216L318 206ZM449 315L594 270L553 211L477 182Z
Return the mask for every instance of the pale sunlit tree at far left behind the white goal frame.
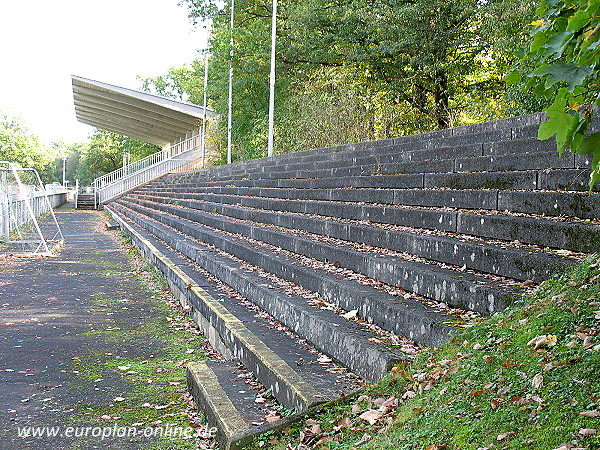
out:
M0 161L9 161L19 167L36 169L43 183L55 181L54 148L40 143L17 117L0 111Z

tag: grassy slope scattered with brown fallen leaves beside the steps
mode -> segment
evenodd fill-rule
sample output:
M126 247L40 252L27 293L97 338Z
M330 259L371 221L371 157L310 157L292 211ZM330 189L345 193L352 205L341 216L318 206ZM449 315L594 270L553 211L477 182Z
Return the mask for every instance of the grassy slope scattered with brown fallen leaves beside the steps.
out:
M248 448L599 449L599 330L596 257Z

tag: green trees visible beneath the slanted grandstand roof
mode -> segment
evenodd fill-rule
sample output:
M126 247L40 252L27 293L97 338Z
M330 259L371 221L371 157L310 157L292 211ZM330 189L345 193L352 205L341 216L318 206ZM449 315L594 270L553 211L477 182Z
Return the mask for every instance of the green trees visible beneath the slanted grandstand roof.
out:
M81 185L91 185L95 178L120 168L123 165L123 155L129 153L133 162L158 150L160 148L156 145L109 131L96 130L89 145L81 149L77 178Z

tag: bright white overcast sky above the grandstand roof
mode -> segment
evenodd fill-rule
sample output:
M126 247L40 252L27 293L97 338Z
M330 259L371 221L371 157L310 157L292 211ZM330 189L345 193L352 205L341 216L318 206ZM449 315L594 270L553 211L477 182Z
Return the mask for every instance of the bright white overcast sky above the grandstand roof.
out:
M85 140L71 74L130 89L191 62L207 32L179 0L2 0L0 110L46 143Z

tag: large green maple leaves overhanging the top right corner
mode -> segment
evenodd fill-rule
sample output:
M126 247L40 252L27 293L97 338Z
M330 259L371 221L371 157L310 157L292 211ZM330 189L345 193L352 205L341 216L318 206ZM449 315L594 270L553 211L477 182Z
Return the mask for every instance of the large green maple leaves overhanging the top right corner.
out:
M565 148L578 154L593 154L590 189L600 180L600 140L586 137L600 104L599 0L544 0L530 25L529 51L522 62L534 69L521 79L510 73L506 81L523 83L525 89L547 99L548 120L540 126L538 138L556 134L560 154Z

